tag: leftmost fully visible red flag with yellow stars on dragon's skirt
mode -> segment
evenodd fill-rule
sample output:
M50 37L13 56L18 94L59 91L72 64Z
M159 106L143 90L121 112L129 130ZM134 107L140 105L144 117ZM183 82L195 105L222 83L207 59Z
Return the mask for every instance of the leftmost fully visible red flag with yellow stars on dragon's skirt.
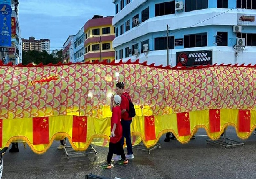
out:
M33 145L49 144L49 118L33 118Z

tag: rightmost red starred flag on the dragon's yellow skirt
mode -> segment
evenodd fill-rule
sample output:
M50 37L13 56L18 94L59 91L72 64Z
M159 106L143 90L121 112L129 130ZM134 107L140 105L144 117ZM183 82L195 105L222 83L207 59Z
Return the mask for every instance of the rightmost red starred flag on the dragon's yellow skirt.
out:
M238 132L250 132L251 112L250 110L239 110Z

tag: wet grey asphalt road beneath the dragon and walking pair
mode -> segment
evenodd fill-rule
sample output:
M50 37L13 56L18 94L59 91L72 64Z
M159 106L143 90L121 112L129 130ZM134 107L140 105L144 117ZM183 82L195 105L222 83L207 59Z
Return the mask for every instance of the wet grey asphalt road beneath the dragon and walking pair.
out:
M204 129L196 135L205 134ZM239 140L235 130L229 127L226 136ZM148 152L134 149L133 160L125 166L115 165L112 169L101 169L106 160L108 148L97 147L97 156L88 154L66 158L64 150L57 150L59 142L54 142L43 155L33 153L29 147L25 150L19 144L20 152L4 155L3 179L60 178L84 179L93 173L109 179L149 178L255 178L256 175L256 136L248 140L239 140L245 146L224 149L215 144L206 144L207 136L196 136L188 144L176 140L164 143L161 148Z

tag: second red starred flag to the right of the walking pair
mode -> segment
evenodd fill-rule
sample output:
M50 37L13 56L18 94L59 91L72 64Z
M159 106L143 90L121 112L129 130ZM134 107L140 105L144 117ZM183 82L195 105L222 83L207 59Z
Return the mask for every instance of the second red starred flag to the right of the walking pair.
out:
M176 115L179 136L189 136L191 134L189 113L177 113Z

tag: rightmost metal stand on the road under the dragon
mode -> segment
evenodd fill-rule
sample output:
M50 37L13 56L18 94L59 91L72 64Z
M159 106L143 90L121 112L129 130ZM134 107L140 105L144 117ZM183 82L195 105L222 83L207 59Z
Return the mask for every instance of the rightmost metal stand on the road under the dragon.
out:
M234 146L238 146L238 145L242 145L244 147L244 143L243 142L238 142L229 138L226 138L226 130L224 131L224 136L221 137L218 140L212 140L212 139L207 139L206 140L207 144L214 143L214 144L219 144L223 147L228 148L228 147L234 147Z

